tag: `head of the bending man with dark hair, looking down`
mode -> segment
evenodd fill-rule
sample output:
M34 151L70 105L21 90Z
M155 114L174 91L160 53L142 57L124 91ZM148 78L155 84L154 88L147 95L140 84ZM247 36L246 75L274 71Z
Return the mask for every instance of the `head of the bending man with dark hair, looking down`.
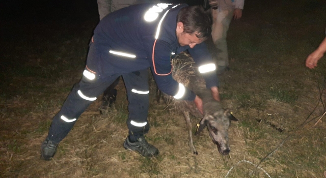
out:
M182 8L177 16L176 35L181 46L195 47L211 35L211 15L200 6Z

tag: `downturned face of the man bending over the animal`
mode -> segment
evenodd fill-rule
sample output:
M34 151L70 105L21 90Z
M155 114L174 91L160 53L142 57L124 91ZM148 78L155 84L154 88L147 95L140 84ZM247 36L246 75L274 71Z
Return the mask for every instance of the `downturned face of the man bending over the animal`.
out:
M204 40L199 39L196 37L196 33L187 34L183 32L183 23L178 22L176 35L180 46L187 46L189 45L190 48L194 48L197 44L203 42Z

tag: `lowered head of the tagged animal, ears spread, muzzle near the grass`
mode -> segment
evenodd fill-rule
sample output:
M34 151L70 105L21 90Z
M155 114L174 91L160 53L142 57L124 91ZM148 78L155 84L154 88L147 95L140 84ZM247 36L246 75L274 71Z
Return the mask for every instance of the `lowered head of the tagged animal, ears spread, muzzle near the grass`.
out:
M199 134L205 126L209 131L212 141L218 145L218 150L222 155L230 153L228 130L232 121L238 121L230 110L220 110L214 113L206 113L199 123L196 135Z

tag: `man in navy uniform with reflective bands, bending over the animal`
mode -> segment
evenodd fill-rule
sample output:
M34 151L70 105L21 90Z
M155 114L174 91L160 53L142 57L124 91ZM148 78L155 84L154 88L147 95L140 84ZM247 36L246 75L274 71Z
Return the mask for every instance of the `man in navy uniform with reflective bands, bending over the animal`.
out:
M171 54L188 50L199 66L212 96L220 100L218 78L205 43L211 34L210 14L202 7L185 4L141 4L105 16L94 30L83 78L74 85L61 110L55 115L41 145L41 156L50 160L59 142L77 118L119 76L126 85L129 136L125 149L143 156L157 156L148 143L148 72L150 67L160 91L175 99L194 101L202 112L202 100L172 78Z

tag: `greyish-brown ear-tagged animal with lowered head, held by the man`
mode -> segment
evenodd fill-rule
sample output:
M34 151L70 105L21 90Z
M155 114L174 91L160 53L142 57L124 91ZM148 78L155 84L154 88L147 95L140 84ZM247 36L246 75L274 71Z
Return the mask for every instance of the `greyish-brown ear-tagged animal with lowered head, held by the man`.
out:
M187 86L203 100L204 115L198 111L194 102L176 100L166 94L160 96L159 92L158 101L162 97L167 104L173 104L176 110L183 114L188 129L189 146L195 155L198 155L198 152L193 143L190 114L202 118L197 124L198 128L195 135L198 135L206 126L213 143L218 146L219 153L228 155L230 153L228 129L231 120L238 120L231 114L229 109L223 109L221 102L213 99L210 90L205 86L205 80L197 72L198 68L188 53L183 52L175 57L172 60L172 66L174 79Z

